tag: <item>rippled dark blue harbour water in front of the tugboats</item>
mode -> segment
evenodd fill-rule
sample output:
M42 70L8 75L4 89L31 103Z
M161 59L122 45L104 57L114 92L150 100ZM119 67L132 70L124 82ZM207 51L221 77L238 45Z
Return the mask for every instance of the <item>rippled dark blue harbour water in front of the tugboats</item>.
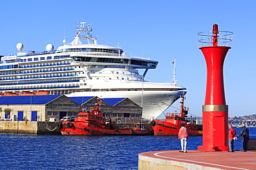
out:
M256 128L249 129L256 138ZM201 136L188 139L188 150L201 145ZM0 169L138 169L138 153L179 150L180 142L170 136L0 134L0 146ZM241 150L240 138L235 150Z

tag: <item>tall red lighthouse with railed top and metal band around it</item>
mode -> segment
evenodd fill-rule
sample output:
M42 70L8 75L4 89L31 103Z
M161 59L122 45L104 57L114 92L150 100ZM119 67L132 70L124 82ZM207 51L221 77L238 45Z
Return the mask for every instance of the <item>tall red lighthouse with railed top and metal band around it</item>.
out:
M226 105L223 63L231 48L232 32L199 32L199 49L207 67L205 103L203 105L203 146L199 151L228 151L228 105Z

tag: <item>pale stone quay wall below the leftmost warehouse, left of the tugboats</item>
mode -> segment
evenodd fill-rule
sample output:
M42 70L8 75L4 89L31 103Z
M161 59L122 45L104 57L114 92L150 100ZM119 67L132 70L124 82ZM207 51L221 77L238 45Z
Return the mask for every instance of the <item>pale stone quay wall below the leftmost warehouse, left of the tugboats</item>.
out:
M57 123L37 121L0 121L1 134L60 135Z

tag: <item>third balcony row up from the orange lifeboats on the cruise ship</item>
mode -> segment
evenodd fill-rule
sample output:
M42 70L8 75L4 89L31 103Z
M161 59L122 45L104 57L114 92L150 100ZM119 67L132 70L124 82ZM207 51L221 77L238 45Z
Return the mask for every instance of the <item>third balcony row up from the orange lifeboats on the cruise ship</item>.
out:
M38 74L38 75L29 75L29 76L10 76L10 77L0 77L0 81L8 80L20 80L20 79L30 79L30 78L53 78L53 77L69 77L69 76L78 76L76 73L55 73L55 74Z

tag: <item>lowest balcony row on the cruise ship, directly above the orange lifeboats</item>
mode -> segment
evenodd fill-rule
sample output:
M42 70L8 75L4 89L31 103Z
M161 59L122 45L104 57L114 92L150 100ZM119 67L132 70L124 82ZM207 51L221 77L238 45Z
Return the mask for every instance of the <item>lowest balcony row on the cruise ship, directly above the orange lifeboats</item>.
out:
M64 89L64 88L78 88L80 87L79 84L78 85L71 85L71 86L57 86L57 87L42 87L42 86L38 86L38 87L0 87L0 90L27 90L27 89Z

